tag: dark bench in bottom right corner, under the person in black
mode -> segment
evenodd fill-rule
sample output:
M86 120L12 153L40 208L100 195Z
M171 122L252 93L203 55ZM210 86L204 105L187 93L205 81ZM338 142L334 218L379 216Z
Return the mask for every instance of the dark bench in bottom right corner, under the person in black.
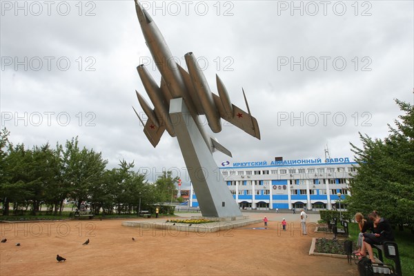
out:
M382 253L384 253L387 259L391 259L394 262L395 275L401 276L402 268L397 244L395 242L384 242L382 244L373 244L373 249L374 248L377 250L378 259L380 261L377 265L373 265L374 273L391 274L390 268L388 268L388 266L384 266L383 264L384 257L382 256ZM392 266L391 268L393 269Z

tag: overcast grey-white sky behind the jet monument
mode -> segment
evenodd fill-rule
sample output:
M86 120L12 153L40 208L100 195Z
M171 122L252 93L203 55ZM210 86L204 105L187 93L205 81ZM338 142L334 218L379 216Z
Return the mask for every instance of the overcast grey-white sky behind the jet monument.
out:
M172 55L186 68L194 52L210 88L215 74L246 110L262 139L228 126L214 136L232 153L222 161L353 159L358 132L388 135L401 115L393 99L413 103L413 1L141 1ZM136 67L159 80L129 1L1 1L1 128L10 140L65 143L102 152L152 181L181 174L184 159L167 132L157 148L131 106L149 101ZM142 115L144 113L141 113ZM224 121L223 121L224 122ZM210 132L210 130L208 129Z

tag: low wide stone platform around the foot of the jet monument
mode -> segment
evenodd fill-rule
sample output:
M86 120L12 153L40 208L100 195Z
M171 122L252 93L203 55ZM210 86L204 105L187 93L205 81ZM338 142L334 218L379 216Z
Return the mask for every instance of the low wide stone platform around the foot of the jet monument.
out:
M186 219L185 217L174 217L171 219ZM165 220L155 219L139 219L139 221L123 221L122 226L139 227L143 232L150 229L162 229L168 233L174 233L176 231L181 232L197 232L197 233L214 233L217 231L231 230L250 224L258 224L262 222L262 219L250 219L248 216L239 217L201 217L194 216L190 219L206 219L208 222L205 224L181 224L166 222ZM146 229L146 230L144 230Z

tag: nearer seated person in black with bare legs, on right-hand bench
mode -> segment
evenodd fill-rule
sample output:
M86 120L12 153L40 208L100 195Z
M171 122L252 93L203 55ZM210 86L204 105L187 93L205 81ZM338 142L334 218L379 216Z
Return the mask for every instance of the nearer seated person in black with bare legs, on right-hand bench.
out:
M384 217L380 217L378 213L373 212L368 215L368 219L371 219L374 223L373 233L364 233L364 245L368 250L369 258L371 262L375 263L373 255L373 244L382 244L386 241L393 241L394 234L391 225Z

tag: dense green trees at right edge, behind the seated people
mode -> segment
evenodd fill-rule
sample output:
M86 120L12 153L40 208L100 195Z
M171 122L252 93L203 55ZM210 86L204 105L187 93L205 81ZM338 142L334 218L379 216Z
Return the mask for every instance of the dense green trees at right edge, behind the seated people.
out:
M404 112L388 124L384 139L359 133L362 148L351 144L359 165L351 182L348 210L365 215L376 210L393 224L414 226L414 108L395 100Z

